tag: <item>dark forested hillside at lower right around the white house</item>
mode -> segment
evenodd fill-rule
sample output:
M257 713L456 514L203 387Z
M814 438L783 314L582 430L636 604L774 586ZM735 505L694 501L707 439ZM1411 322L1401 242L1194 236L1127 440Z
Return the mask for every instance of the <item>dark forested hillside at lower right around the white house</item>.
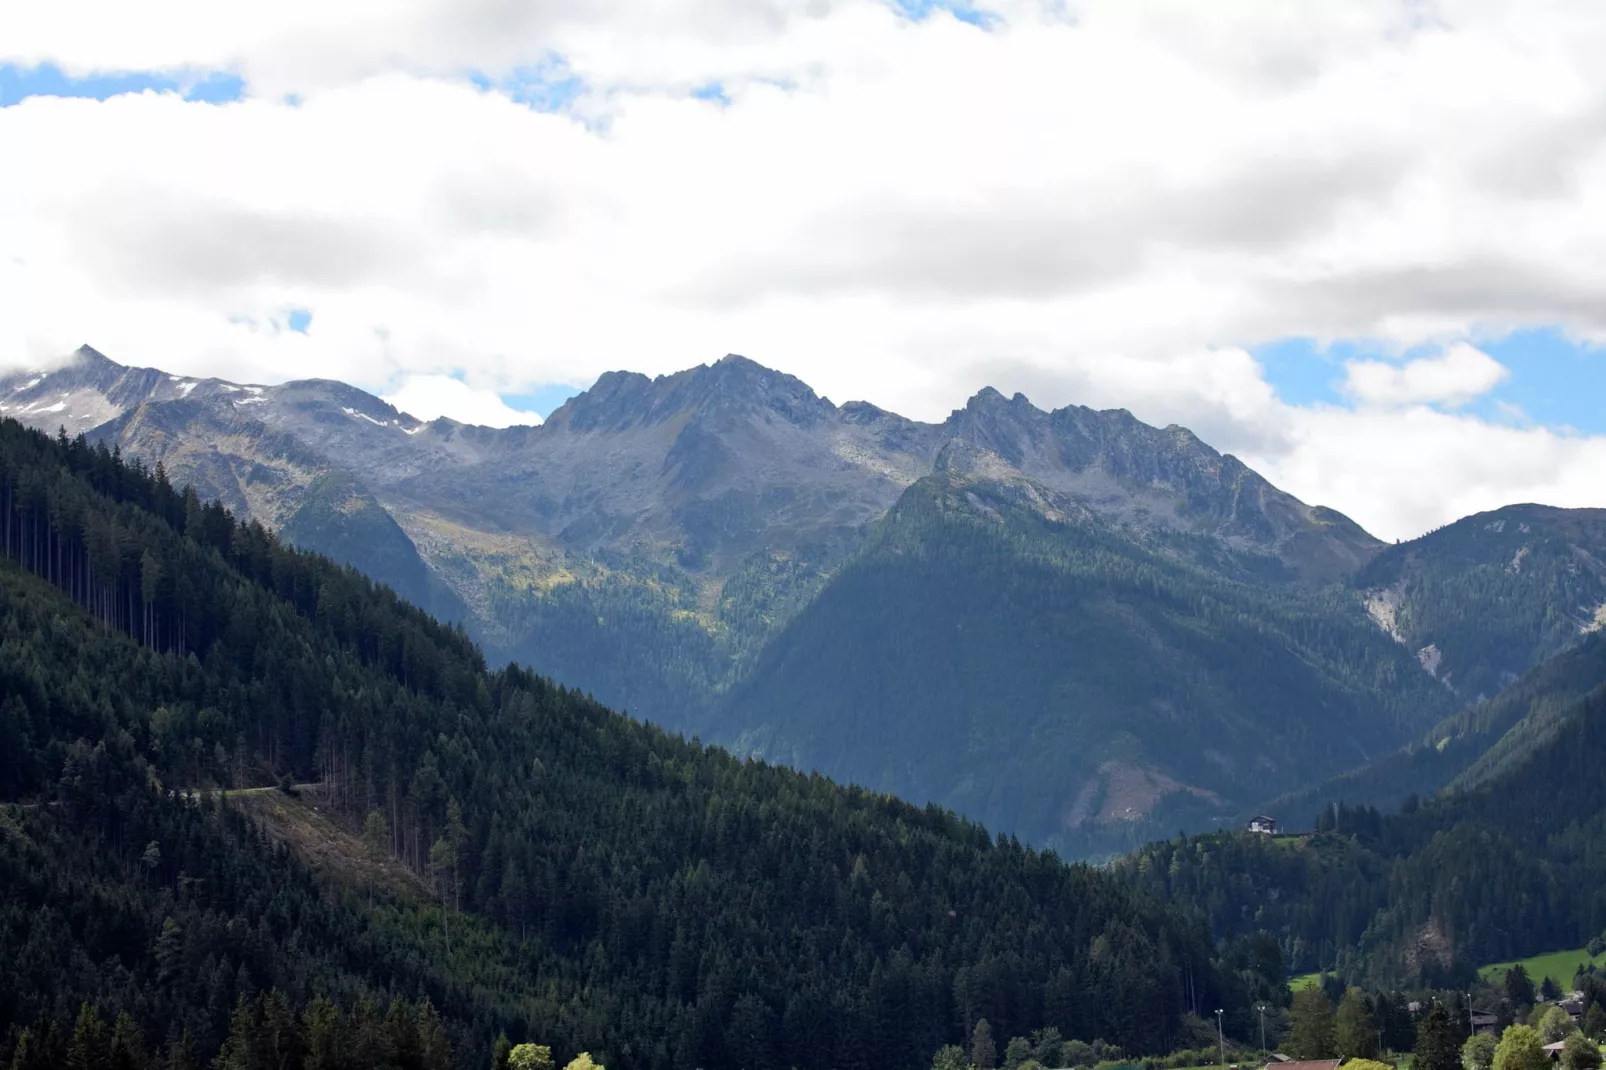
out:
M1461 983L1482 962L1580 946L1606 927L1606 643L1540 681L1556 700L1529 696L1476 784L1394 815L1333 805L1309 839L1179 837L1118 872L1217 932L1275 935L1293 972Z

